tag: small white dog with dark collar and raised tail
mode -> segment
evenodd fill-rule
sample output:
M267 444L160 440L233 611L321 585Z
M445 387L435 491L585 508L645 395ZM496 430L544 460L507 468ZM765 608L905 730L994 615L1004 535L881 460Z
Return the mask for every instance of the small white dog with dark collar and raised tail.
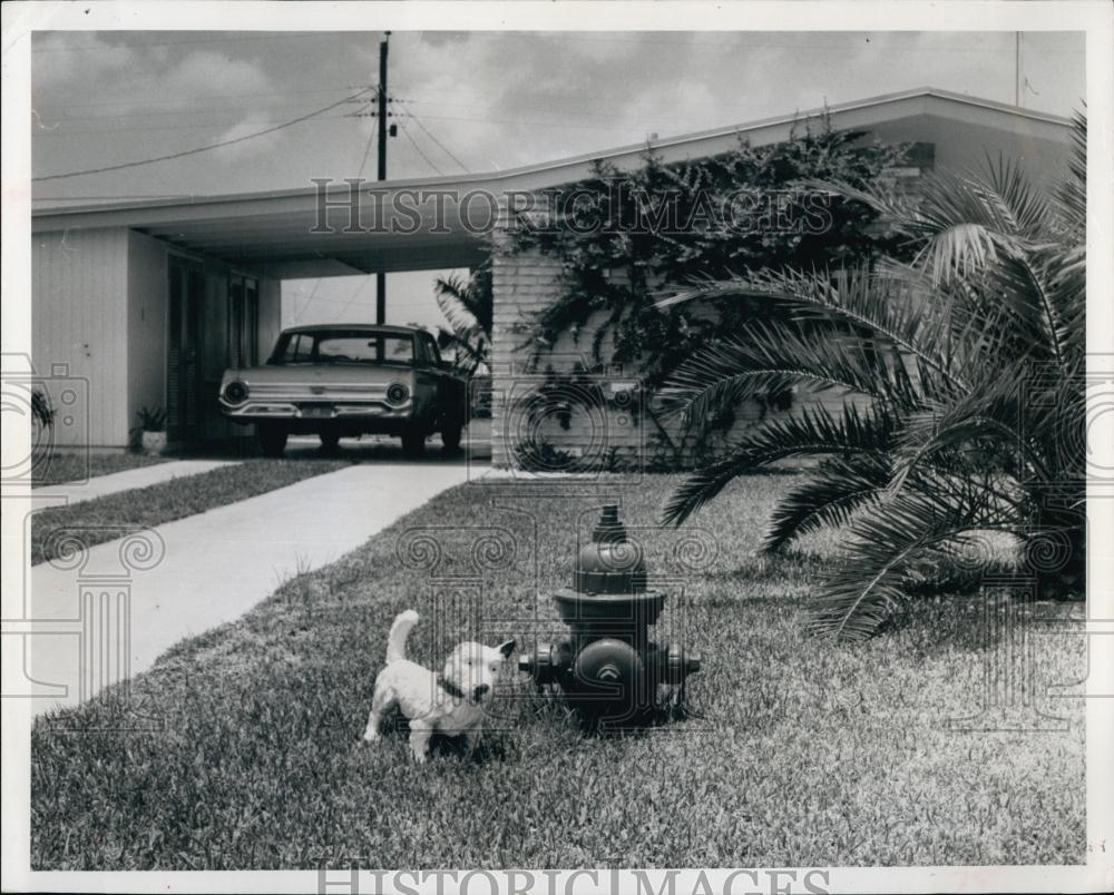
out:
M408 609L391 624L387 667L375 678L363 739L365 742L379 739L380 722L398 707L410 721L410 751L416 761L426 760L430 737L437 730L449 736L463 734L471 753L479 742L483 706L495 696L499 669L515 649L515 641L507 640L494 648L470 641L458 643L444 663L444 671L434 675L407 659L407 637L417 623L418 613Z

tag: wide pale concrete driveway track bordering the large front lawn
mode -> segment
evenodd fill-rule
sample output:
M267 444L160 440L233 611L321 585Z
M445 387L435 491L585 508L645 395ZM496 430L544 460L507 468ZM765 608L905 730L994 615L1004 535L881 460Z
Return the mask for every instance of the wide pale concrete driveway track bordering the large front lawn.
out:
M154 539L99 544L77 568L33 567L36 621L23 640L42 694L35 712L145 671L182 638L238 618L299 568L338 559L467 478L463 463L364 463L167 523Z

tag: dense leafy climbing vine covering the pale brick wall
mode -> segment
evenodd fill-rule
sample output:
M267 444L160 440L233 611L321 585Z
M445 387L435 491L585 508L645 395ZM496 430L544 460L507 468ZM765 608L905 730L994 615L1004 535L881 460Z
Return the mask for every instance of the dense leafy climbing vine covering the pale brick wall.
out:
M629 173L597 163L589 180L548 197L547 225L515 229L514 250L540 249L564 274L557 301L524 323L527 345L544 350L563 333L579 341L590 321L593 361L623 364L654 391L710 338L778 313L745 298L711 314L662 307L654 292L663 285L900 253L892 235L872 226L871 206L804 188L817 179L870 187L908 149L863 146L863 137L833 130L824 116L785 142L741 139L714 158L666 164L647 149ZM604 356L608 336L614 348Z

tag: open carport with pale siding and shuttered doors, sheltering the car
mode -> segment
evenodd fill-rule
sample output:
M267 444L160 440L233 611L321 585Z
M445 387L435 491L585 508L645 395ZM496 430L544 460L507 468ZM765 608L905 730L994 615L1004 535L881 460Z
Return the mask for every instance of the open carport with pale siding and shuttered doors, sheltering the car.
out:
M144 409L166 410L172 441L233 434L216 409L217 383L274 343L282 281L473 266L483 237L448 198L460 188L341 181L37 213L36 368L49 374L48 391L50 377L77 378L89 395L56 426L57 443L123 446ZM426 189L441 198L410 199ZM377 212L397 205L411 209L404 219Z

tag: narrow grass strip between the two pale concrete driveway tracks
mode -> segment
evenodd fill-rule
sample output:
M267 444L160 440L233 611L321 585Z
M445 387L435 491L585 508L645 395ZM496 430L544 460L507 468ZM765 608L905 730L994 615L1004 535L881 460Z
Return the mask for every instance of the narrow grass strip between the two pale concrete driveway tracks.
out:
M66 539L52 537L63 530L81 529L82 543L94 547L120 538L136 525L162 525L345 465L339 460L248 460L147 488L40 510L31 517L31 564L53 559L65 549Z

